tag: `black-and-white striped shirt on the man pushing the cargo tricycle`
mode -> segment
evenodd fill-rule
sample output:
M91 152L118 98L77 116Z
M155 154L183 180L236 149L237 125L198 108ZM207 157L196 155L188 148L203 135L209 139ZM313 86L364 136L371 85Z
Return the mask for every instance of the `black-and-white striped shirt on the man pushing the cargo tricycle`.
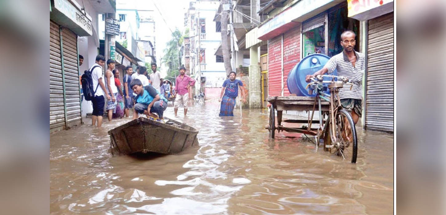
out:
M330 58L324 66L328 69L328 74L338 70L338 76L348 77L348 81L353 81L353 87L350 90L350 85L344 84L344 87L339 89L339 98L355 98L362 99L362 80L365 69L365 58L362 53L356 52L355 66L348 60L347 54L342 52Z

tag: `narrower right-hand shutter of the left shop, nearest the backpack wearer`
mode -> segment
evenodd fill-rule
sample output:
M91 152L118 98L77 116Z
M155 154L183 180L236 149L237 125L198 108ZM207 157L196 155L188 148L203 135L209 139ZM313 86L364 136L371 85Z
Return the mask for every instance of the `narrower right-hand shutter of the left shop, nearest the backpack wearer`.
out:
M63 67L65 73L66 118L68 123L81 120L77 35L62 29Z

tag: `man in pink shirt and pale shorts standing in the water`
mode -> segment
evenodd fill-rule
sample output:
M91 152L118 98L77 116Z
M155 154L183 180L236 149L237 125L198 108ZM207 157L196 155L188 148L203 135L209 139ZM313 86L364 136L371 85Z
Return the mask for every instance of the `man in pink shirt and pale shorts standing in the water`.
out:
M177 116L178 107L184 107L184 116L187 113L187 101L189 100L189 87L195 84L195 80L184 74L186 68L180 67L180 75L175 79L175 105L174 111Z

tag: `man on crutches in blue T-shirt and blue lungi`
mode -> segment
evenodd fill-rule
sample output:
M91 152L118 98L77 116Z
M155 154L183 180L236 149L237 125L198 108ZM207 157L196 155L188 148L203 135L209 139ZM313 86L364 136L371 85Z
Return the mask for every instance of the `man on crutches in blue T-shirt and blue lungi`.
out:
M243 87L242 81L235 80L235 72L229 73L229 79L223 82L222 92L220 93L219 101L221 101L221 105L219 116L234 116L235 98L239 94L239 87L242 90L240 94L243 102L246 102L245 88ZM222 96L223 98L221 98Z

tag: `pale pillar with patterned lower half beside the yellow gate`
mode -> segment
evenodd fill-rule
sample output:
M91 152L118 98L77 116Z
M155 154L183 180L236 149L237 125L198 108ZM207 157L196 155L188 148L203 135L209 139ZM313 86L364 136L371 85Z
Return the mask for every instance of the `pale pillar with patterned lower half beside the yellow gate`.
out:
M249 65L249 108L261 108L261 85L260 85L260 66L258 45L253 45L249 48L249 58L251 64Z

